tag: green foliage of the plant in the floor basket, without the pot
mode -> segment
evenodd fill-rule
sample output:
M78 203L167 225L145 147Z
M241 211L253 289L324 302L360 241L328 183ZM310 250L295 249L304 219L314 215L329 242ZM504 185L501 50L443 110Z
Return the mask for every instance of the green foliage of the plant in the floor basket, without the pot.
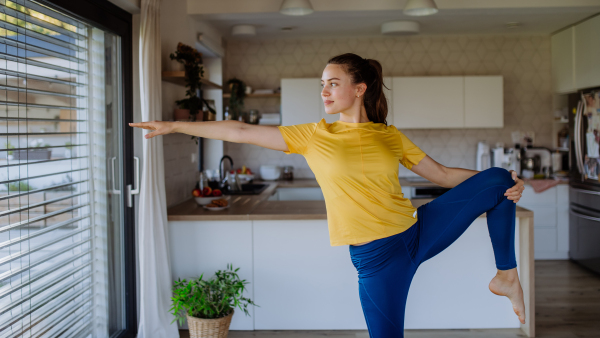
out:
M248 316L248 305L254 305L249 298L242 296L249 284L241 280L237 274L240 268L233 269L227 264L226 270L215 272L215 277L204 280L202 274L196 279L178 279L173 285L171 313L174 321L183 324L185 314L196 318L221 318L229 315L234 308L239 308Z

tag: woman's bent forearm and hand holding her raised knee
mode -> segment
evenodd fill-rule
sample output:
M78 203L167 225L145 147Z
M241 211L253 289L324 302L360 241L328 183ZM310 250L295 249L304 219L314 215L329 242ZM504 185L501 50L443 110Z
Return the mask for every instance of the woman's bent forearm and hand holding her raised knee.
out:
M479 172L463 168L448 168L437 163L428 155L419 161L418 164L413 165L410 170L444 188L453 188ZM521 199L521 193L525 190L524 182L517 177L515 171L511 170L511 175L516 184L506 190L504 196L517 203Z

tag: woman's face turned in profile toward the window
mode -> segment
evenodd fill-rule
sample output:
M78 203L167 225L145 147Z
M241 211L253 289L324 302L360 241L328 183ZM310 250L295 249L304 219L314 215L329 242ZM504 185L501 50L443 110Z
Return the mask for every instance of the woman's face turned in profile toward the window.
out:
M353 85L341 65L328 64L321 77L321 98L327 114L337 114L360 104L366 90L364 83ZM361 98L356 97L360 95Z

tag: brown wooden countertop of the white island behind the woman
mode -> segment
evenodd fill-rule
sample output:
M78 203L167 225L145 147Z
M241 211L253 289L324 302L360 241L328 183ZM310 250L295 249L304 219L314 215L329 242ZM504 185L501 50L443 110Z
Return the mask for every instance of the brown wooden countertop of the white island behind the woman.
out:
M191 198L167 209L169 221L237 221L237 220L297 220L327 219L325 201L267 201L277 187L318 187L314 179L293 181L257 181L269 186L260 195L230 195L230 207L221 211L206 210ZM409 182L415 183L415 182ZM400 181L402 184L402 179ZM435 186L435 184L430 183ZM409 184L407 184L409 185ZM423 186L421 182L419 186ZM413 199L413 206L419 207L432 199ZM533 212L517 206L517 217L533 217ZM480 217L485 217L482 214Z

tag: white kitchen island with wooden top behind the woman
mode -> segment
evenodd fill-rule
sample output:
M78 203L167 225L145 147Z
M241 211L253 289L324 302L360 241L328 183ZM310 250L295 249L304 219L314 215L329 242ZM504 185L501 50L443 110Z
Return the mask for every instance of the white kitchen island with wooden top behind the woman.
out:
M356 269L348 246L329 243L325 201L269 200L278 187L318 187L316 180L254 183L269 186L259 195L230 196L231 207L222 211L205 210L194 199L167 210L173 280L212 275L229 263L239 267L240 278L251 283L245 296L260 307L251 307L250 317L236 312L230 330L365 330ZM404 182L410 183L417 182ZM429 201L411 200L416 207ZM482 214L455 244L419 268L405 328L520 327L535 336L533 212L517 206L516 226L527 324L519 323L506 298L487 289L496 268ZM457 261L462 268L451 268ZM463 315L472 309L478 311Z

